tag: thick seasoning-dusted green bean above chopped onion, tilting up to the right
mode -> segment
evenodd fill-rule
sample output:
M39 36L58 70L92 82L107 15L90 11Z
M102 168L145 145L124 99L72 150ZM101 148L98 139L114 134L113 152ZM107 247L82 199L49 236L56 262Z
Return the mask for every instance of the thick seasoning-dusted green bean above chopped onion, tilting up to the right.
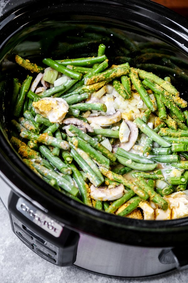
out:
M122 75L127 75L128 73L129 69L127 66L124 66L122 68L108 69L96 75L86 76L84 79L84 84L87 86L104 80L114 80L121 77Z

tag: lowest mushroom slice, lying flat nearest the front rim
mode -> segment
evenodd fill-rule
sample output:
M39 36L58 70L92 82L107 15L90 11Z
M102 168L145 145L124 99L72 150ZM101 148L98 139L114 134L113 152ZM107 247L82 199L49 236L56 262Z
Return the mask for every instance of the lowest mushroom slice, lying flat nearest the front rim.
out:
M109 189L108 187L95 187L91 185L90 195L91 198L99 201L112 201L123 197L124 186L122 184Z

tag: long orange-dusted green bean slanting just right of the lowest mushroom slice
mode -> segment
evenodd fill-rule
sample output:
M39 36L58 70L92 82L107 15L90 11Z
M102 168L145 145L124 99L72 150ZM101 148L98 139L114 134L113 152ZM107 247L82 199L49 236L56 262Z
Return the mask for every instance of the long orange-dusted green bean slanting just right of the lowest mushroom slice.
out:
M101 171L102 175L106 176L110 180L117 181L124 186L128 187L130 190L132 190L135 194L137 194L142 199L146 200L148 199L149 195L147 192L145 192L143 189L139 187L139 185L136 185L135 183L127 180L121 175L118 175L104 167L99 167L99 170Z

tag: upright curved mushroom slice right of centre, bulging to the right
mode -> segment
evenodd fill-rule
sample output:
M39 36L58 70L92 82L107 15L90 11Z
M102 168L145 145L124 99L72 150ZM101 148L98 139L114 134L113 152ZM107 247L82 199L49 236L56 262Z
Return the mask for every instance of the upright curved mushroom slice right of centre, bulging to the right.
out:
M126 123L128 124L128 127L130 129L128 142L122 142L119 146L122 147L124 150L129 151L138 139L138 127L132 121L126 121Z

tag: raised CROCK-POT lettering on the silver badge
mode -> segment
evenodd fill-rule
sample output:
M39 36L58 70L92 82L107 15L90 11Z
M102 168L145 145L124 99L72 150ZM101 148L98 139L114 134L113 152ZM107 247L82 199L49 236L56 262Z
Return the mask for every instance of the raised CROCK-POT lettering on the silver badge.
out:
M42 219L41 217L39 217L39 215L37 213L34 213L34 211L32 209L30 209L25 203L21 204L21 209L23 211L25 211L26 213L29 214L29 216L31 216L33 219L35 219L37 221L37 224L40 225L44 225L46 226L49 230L52 230L53 232L57 232L57 228L54 227L54 221L51 220L50 222Z

